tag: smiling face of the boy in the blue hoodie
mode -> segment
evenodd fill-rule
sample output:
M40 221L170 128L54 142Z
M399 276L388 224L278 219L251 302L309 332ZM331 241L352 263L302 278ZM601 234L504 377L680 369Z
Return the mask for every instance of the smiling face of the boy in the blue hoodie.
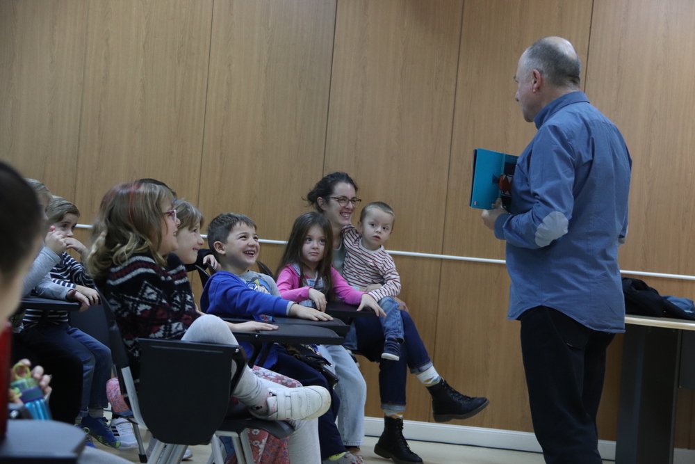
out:
M256 229L239 223L227 235L227 243L216 241L213 246L220 255L220 265L224 271L243 274L256 264L261 243Z

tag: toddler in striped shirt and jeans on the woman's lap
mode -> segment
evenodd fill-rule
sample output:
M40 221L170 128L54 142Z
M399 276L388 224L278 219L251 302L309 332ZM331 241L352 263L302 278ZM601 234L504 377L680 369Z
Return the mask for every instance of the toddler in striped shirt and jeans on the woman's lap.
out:
M398 361L403 343L403 321L398 303L392 298L400 293L400 276L395 263L384 249L384 243L393 232L395 214L384 202L372 202L362 209L357 229L349 225L343 229L345 265L343 277L355 289L368 291L386 312L380 317L384 331L382 358ZM345 348L357 349L354 325L345 336Z

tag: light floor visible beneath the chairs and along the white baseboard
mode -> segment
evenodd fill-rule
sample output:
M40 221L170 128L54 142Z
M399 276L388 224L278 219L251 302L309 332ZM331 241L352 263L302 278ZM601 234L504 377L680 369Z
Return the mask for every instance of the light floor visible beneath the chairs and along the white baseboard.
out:
M149 436L145 439L147 445ZM362 454L366 464L393 463L393 461L380 458L374 454L374 445L377 438L367 437L366 445L362 448ZM446 445L442 443L417 442L409 440L411 449L423 458L425 464L543 464L543 456L537 453L524 453L521 451L509 451L507 449L490 449L480 447L464 447L458 445ZM138 450L126 449L117 451L97 444L100 449L112 451L117 456L138 463ZM194 464L206 464L210 457L210 447L192 447ZM604 461L611 463L612 461ZM304 463L300 463L304 464Z

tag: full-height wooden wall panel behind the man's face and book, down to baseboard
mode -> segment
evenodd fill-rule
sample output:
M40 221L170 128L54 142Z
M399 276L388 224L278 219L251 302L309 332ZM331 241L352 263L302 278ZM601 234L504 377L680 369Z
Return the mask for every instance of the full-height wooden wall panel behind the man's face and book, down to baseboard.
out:
M523 120L514 101L519 56L535 40L561 35L584 58L590 26L590 0L541 0L533 5L466 1L448 169L445 254L504 258L504 243L482 225L481 211L468 207L473 150L521 153L535 127ZM454 371L452 380L465 394L489 397L489 408L466 425L532 431L519 324L507 321L508 298L505 266L444 262L436 365Z

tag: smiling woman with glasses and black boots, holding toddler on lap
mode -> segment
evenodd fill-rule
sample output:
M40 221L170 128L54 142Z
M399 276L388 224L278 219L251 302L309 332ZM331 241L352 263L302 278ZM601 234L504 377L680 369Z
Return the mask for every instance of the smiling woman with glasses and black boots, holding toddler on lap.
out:
M306 201L330 221L334 237L333 266L339 273L343 273L346 250L342 230L351 225L352 214L361 202L357 198L357 184L346 173L332 173L314 186L306 195ZM353 324L357 335L357 351L368 360L379 362L379 393L385 426L375 447L375 453L384 458L392 458L397 463L422 463L423 460L411 451L402 434L407 369L416 375L432 395L432 412L437 422L472 417L483 410L489 401L482 397L467 397L450 387L434 369L410 314L406 311L401 311L400 314L404 342L398 361L382 358L384 333L381 323L376 318L356 318ZM341 383L342 379L338 385ZM338 396L343 403L344 390L345 385L338 390ZM342 408L338 417L341 415Z

